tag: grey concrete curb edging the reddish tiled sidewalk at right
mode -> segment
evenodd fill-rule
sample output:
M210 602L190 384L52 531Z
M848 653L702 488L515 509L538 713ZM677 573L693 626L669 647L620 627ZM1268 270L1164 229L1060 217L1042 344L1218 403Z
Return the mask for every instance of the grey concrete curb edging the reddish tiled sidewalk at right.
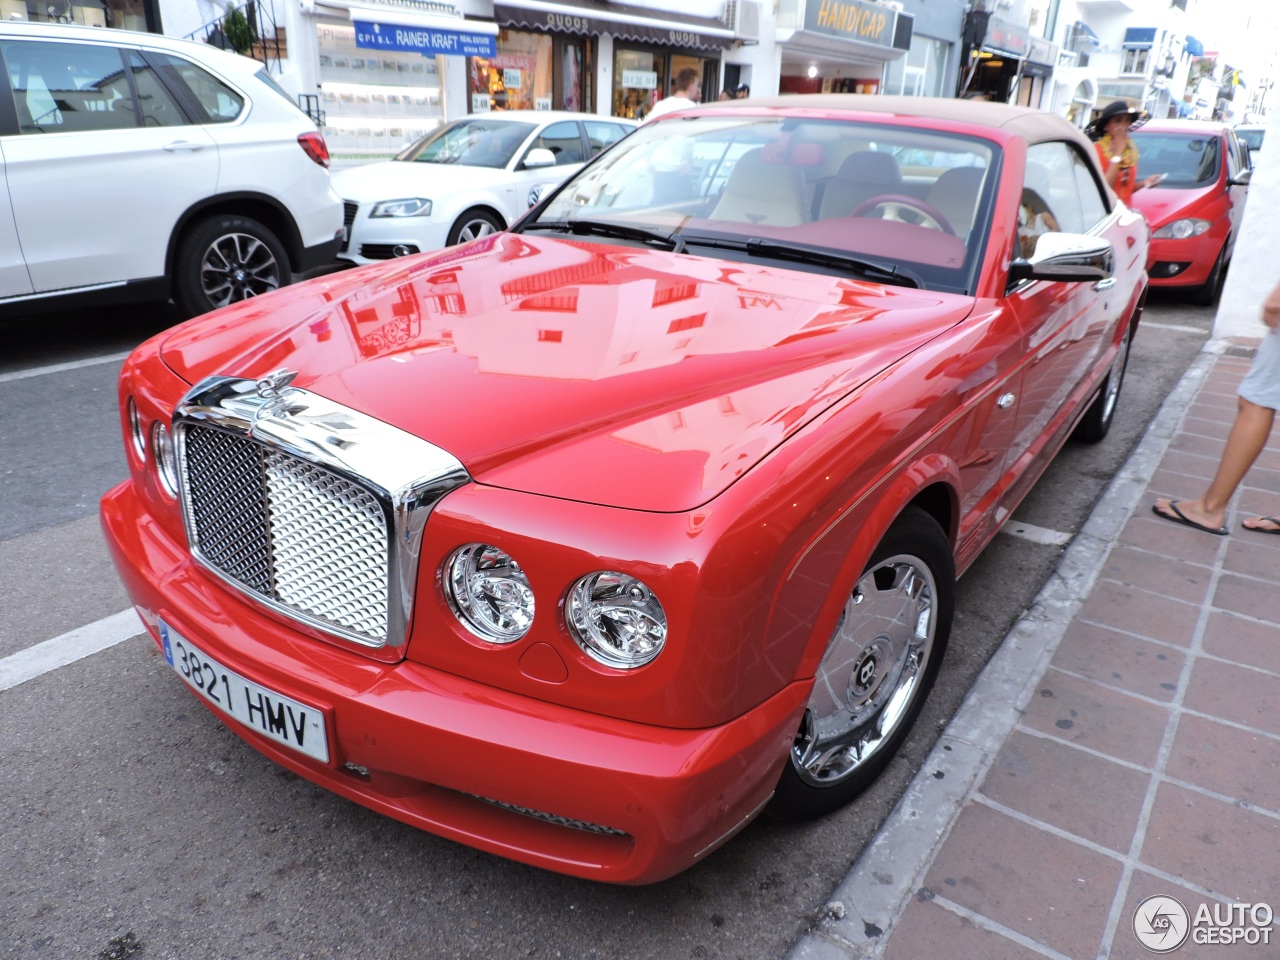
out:
M1219 355L1207 343L1165 398L1133 454L1071 540L1030 609L978 676L879 833L836 887L823 919L787 960L878 960L973 790L1018 724L1116 536L1147 494L1165 451Z

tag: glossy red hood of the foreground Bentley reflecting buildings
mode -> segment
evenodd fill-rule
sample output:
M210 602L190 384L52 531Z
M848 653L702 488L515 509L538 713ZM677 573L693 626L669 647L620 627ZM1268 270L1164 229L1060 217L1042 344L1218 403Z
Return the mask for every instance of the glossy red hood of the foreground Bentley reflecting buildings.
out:
M177 328L196 383L278 367L457 457L484 484L691 509L968 297L497 234L285 288Z

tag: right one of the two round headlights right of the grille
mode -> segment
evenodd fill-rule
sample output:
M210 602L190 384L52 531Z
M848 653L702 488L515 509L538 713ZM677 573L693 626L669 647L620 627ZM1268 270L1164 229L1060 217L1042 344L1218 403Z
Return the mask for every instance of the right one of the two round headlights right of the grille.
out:
M635 577L613 571L585 576L570 588L564 622L588 655L607 667L643 667L667 643L667 613Z

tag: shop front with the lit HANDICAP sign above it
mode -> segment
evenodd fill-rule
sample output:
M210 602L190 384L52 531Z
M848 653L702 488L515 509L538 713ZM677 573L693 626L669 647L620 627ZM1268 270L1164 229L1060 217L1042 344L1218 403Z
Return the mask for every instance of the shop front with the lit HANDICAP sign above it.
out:
M778 91L882 93L891 65L911 49L913 24L910 14L869 0L782 0Z

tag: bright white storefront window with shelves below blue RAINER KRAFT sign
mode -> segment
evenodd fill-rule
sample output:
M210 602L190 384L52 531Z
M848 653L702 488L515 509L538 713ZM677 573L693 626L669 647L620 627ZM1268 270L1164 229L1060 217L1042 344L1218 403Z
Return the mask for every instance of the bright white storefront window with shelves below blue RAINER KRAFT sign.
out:
M349 23L316 24L316 40L330 152L351 159L390 156L440 124L439 58L357 47Z

